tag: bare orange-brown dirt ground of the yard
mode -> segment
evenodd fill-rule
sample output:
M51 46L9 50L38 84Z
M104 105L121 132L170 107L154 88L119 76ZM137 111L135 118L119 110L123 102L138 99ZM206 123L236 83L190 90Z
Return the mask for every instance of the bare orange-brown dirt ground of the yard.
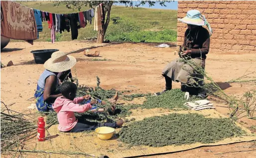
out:
M157 44L112 43L96 44L93 42L26 42L9 43L1 50L1 63L6 65L12 61L14 66L1 69L1 101L8 108L20 112L29 112L27 107L34 103L28 99L33 97L37 79L43 72L43 65L34 63L32 50L59 49L70 53L77 59L72 69L73 76L79 79L79 84L96 86L96 76L101 79L101 86L106 89L132 90L131 93L157 92L164 88L164 78L161 71L173 59L175 47L156 48ZM175 44L172 44L175 46ZM83 51L90 49L90 53L100 51L97 59L108 61L95 61L96 57L84 56ZM256 54L227 54L225 52L209 53L206 60L206 71L220 87L229 95L241 96L250 89L256 89L256 84L241 85L239 83L226 83L237 79L244 73L256 71ZM180 83L174 83L173 88L179 88ZM14 103L14 104L13 104ZM228 115L230 110L220 103L214 104L216 110ZM31 110L36 112L36 110ZM242 118L238 122L246 122L245 127L256 125L255 120ZM254 145L254 146L253 146ZM250 148L251 147L251 148ZM220 154L226 153L226 154ZM252 143L239 143L217 147L202 147L185 152L153 156L152 158L255 158L256 146Z

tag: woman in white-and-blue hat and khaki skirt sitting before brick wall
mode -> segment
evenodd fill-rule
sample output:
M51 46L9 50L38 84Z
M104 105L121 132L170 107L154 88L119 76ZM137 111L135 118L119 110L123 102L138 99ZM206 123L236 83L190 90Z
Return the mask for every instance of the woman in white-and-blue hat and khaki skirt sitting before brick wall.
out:
M206 18L200 13L199 10L189 10L186 16L179 21L186 23L188 29L185 32L184 42L182 47L184 48L181 58L186 58L189 62L194 62L202 68L205 67L206 54L209 52L210 36L212 29ZM202 26L207 25L210 34L207 29ZM164 76L166 84L165 90L155 93L160 95L163 92L172 88L172 81L181 82L182 85L188 85L193 87L197 84L195 78L191 78L191 74L195 73L195 70L188 64L184 63L184 60L176 59L170 62L163 70L162 76ZM182 86L183 87L183 86ZM196 91L195 95L198 97L206 98L206 92L203 88L187 88ZM190 91L189 91L190 92Z

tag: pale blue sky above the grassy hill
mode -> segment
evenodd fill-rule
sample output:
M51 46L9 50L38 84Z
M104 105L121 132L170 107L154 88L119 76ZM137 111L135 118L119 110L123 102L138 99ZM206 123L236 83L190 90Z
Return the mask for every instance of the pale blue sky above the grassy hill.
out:
M134 0L133 4L135 5L136 2L138 3L139 0ZM125 5L125 4L120 4L120 3L115 3L114 5ZM171 2L166 2L165 6L161 6L159 3L156 3L154 6L151 6L150 8L154 8L154 9L173 9L173 10L178 10L178 1L171 1ZM140 5L140 7L147 7L149 8L148 4L145 5Z

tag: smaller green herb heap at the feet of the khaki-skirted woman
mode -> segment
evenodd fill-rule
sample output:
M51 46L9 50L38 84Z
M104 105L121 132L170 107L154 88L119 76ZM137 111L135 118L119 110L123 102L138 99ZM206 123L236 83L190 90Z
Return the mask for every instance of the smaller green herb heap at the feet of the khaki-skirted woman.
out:
M182 108L188 109L183 104L187 101L194 101L197 98L191 97L189 100L184 98L185 92L180 89L171 89L158 96L147 96L146 101L140 106L141 108Z

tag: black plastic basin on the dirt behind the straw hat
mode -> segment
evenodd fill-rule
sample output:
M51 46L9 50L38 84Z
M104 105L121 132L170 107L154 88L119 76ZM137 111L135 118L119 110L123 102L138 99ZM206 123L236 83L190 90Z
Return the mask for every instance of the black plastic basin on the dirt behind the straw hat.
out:
M53 52L59 51L58 49L43 49L43 50L35 50L31 51L34 56L34 60L36 64L44 64L48 59L51 58Z

